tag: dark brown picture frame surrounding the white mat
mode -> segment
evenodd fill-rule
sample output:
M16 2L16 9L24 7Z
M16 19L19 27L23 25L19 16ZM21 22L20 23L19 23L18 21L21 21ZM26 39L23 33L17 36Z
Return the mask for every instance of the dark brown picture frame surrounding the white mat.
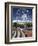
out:
M34 6L36 6L36 40L35 41L9 42L9 4L21 4L21 5L34 5ZM6 29L6 18L8 19L7 20L7 29ZM19 2L5 2L5 44L29 43L29 42L30 43L37 42L37 4L19 3Z

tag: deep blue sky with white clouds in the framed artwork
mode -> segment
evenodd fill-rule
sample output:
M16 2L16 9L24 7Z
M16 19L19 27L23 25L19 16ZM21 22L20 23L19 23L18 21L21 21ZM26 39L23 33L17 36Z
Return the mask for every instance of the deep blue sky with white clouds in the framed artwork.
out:
M32 21L32 8L11 7L11 19L12 20L24 20Z

